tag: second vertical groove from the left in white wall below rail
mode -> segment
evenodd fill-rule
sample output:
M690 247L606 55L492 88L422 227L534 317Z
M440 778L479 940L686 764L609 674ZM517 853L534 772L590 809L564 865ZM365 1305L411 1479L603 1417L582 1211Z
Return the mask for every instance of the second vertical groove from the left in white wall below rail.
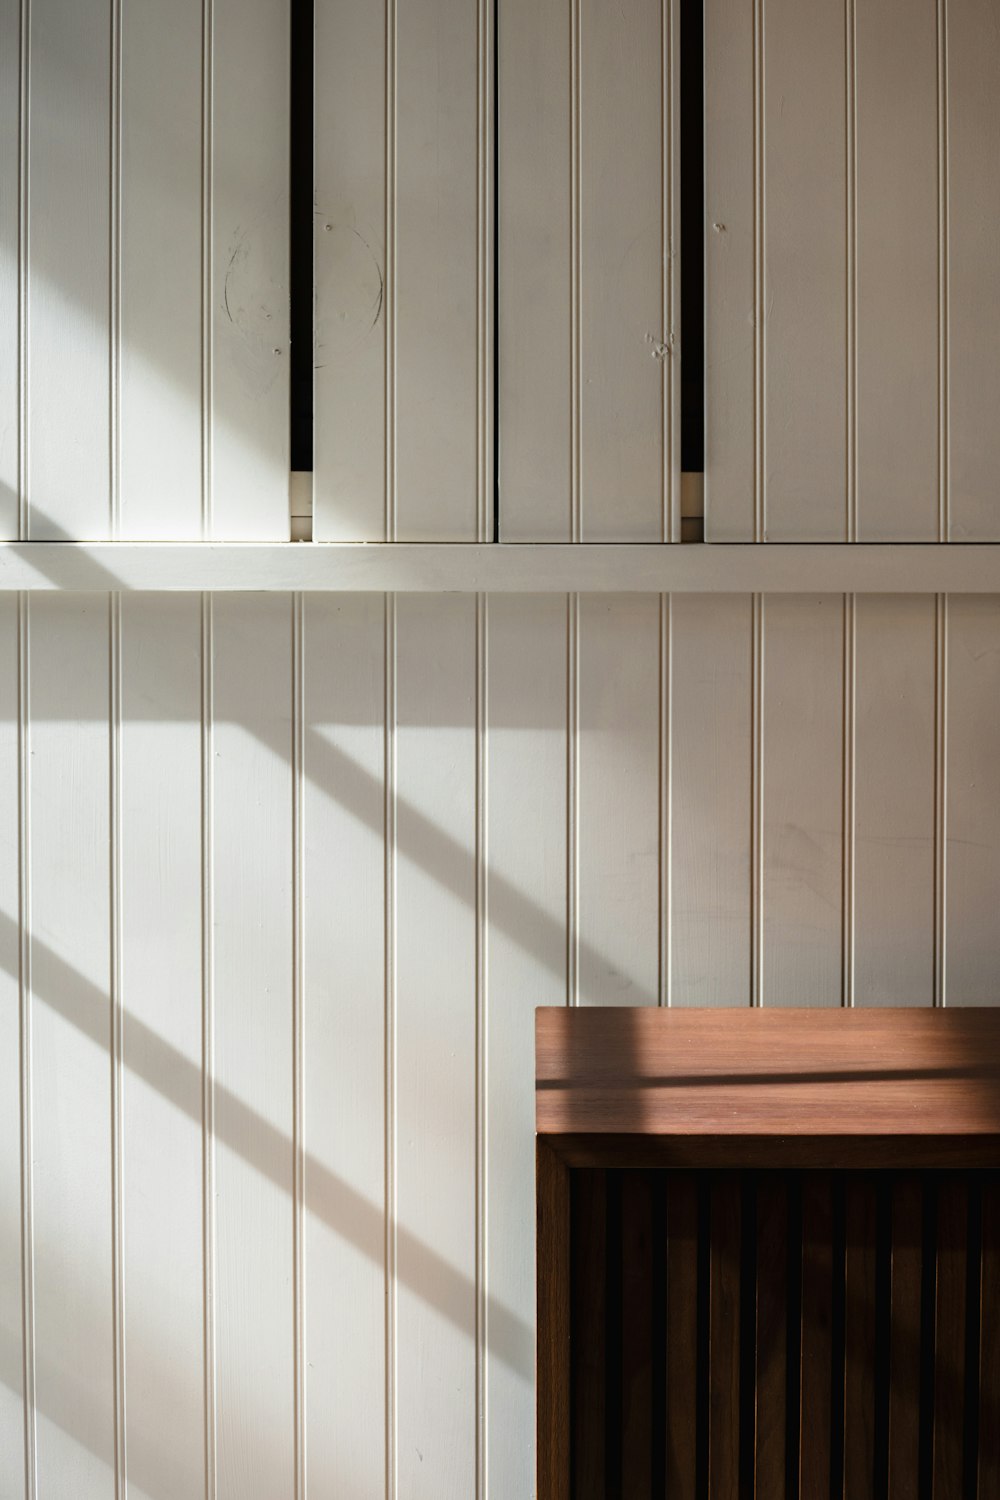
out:
M117 12L117 6L115 6ZM118 16L120 20L120 16ZM114 200L114 194L112 194ZM114 260L114 256L112 256ZM112 363L114 369L114 363ZM112 428L112 432L115 429ZM124 1342L124 1002L121 969L121 594L108 600L108 768L109 768L109 954L111 1004L111 1284L114 1383L114 1492L126 1494Z

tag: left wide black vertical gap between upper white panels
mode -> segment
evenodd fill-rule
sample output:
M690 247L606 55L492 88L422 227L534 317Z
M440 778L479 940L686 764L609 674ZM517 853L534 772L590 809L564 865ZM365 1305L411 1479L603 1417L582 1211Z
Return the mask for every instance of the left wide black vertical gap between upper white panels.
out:
M312 470L313 0L291 0L289 52L289 460Z

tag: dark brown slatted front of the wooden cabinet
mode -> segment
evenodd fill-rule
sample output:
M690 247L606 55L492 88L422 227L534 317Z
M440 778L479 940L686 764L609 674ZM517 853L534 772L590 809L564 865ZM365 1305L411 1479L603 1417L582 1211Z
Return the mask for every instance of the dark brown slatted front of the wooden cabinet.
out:
M997 1173L570 1179L552 1494L1000 1500Z

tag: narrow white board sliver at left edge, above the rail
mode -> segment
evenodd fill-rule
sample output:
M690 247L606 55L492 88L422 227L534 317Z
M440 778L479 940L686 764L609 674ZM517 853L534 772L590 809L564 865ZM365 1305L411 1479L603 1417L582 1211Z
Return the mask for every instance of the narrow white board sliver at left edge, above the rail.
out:
M21 10L0 3L0 537L19 534Z

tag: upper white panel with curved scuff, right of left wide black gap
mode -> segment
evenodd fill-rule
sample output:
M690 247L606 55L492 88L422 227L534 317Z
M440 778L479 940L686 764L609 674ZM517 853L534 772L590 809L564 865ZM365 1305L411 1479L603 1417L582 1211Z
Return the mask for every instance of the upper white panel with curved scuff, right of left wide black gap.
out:
M492 531L492 30L318 6L318 540Z

